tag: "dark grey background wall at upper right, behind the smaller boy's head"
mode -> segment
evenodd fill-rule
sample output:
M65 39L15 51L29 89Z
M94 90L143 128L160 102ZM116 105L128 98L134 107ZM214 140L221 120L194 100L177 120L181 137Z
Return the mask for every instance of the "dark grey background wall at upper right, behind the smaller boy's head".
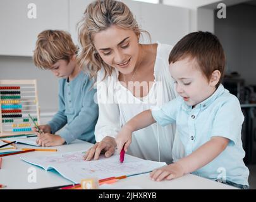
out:
M247 84L256 85L256 6L227 8L227 18L215 18L215 33L227 57L228 73L238 71Z

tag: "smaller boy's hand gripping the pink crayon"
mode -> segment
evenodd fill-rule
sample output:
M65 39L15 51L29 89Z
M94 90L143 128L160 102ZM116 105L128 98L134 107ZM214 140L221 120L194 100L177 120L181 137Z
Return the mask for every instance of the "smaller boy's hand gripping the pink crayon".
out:
M118 146L118 153L121 152L123 146L125 152L128 150L128 146L131 144L131 134L133 131L129 129L126 125L123 126L121 131L116 136L116 145Z

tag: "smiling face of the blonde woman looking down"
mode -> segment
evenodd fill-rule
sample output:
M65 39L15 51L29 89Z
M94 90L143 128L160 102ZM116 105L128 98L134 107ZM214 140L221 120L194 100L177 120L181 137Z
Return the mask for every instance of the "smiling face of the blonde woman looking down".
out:
M106 64L122 74L132 73L141 54L135 32L111 25L106 30L95 33L93 40L97 52Z

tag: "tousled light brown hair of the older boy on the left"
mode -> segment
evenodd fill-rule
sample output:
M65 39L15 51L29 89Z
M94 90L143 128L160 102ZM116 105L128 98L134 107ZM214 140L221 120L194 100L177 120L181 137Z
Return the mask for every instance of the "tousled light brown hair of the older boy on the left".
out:
M77 52L78 47L73 43L70 33L63 30L44 30L37 36L33 59L35 66L51 69L59 59L70 62Z

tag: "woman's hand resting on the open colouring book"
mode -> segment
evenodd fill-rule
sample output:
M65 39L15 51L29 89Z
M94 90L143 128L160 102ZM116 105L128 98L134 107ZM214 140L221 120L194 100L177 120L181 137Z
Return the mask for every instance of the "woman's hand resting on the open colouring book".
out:
M113 137L106 136L102 141L96 143L83 156L84 160L98 160L101 153L105 153L105 157L111 157L116 150L116 141Z

